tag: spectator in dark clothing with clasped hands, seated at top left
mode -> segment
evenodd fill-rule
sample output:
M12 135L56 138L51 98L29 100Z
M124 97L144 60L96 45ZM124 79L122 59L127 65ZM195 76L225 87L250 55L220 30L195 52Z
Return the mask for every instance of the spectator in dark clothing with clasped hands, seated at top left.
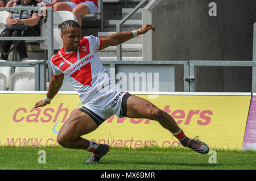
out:
M19 0L14 3L13 7L34 7L38 6L38 1L36 0ZM23 36L40 36L40 27L39 20L41 16L38 14L38 10L26 10L22 11L19 19L19 10L11 11L9 16L6 18L6 24L8 26L14 26L14 24L26 24L27 29L24 31ZM21 32L18 30L14 31L5 31L2 36L20 36ZM18 41L18 40L15 40ZM15 43L14 41L14 43ZM8 52L11 48L12 41L1 41L2 48L4 52ZM27 60L27 47L25 41L20 41L20 43L16 46L16 50L19 53L21 60ZM7 60L8 54L1 53L1 59Z

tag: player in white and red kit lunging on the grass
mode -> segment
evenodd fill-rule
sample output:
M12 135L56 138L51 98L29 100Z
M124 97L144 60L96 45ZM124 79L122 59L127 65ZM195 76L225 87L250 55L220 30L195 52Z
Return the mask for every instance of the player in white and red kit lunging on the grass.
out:
M81 136L94 131L106 119L115 114L118 117L156 120L163 128L168 129L181 145L198 153L208 153L208 146L195 138L191 139L185 136L183 130L168 113L160 110L148 100L123 91L102 66L97 51L124 43L149 30L155 31L154 26L146 24L131 32L114 33L102 39L85 36L82 40L79 23L67 20L61 23L59 28L61 39L63 39L63 48L51 58L53 77L49 82L46 98L36 103L35 108L51 103L52 98L60 90L64 75L68 77L79 93L84 106L73 113L61 127L57 135L57 142L60 145L65 148L93 152L87 162L99 162L101 157L108 153L109 145L97 144ZM98 78L102 77L100 76L102 74L108 74L108 79Z

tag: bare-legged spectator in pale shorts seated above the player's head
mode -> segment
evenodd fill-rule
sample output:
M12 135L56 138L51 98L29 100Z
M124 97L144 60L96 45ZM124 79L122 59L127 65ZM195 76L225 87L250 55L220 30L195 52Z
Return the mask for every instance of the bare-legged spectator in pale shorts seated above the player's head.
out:
M53 6L53 11L71 11L76 15L78 23L82 26L82 16L98 13L97 0L71 0L70 2L58 2Z

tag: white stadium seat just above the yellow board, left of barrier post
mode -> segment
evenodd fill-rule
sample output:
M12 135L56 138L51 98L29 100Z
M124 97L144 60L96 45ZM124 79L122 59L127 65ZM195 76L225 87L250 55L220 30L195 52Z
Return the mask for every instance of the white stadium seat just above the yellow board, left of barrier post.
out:
M39 60L24 60L23 62L35 62ZM15 91L35 90L35 68L17 66L15 73L10 77L10 89Z

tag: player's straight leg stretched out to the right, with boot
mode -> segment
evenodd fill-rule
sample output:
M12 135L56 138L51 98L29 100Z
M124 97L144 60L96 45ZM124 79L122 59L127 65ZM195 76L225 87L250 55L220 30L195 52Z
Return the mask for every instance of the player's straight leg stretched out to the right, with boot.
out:
M199 140L191 139L185 136L182 129L168 113L160 110L148 100L131 95L127 99L127 117L146 118L156 120L163 128L168 129L180 141L181 145L189 147L198 153L208 153L208 146Z

